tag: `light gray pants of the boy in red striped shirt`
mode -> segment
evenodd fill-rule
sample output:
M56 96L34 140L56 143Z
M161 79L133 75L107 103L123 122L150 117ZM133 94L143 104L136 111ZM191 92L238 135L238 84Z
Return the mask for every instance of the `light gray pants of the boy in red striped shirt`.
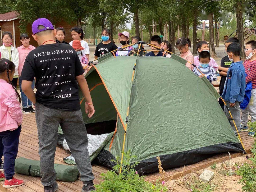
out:
M256 121L256 89L252 89L252 95L249 104L247 107L242 110L242 120L241 123L243 126L247 126L249 114L251 115L251 122Z

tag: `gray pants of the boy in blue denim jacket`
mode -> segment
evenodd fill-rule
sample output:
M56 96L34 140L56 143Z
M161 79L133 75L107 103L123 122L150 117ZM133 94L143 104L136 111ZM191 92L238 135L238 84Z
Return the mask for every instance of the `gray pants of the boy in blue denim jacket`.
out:
M230 113L231 113L231 115L232 115L232 117L233 117L233 119L234 119L234 122L236 123L238 132L240 132L240 131L241 131L241 127L240 127L240 124L241 124L241 118L240 118L240 102L236 101L236 105L233 106L233 107L230 107L229 101L226 101L226 100L225 100L225 103L227 104L227 106L228 106L228 108L229 108L229 110L230 110ZM229 112L228 112L228 110L227 110L226 105L225 105L225 107L224 107L224 113L226 114L227 118L230 120L231 117L230 117L230 114L229 114ZM236 127L235 127L233 121L229 121L229 123L230 123L232 129L234 130L234 133L237 134L237 130L236 130Z

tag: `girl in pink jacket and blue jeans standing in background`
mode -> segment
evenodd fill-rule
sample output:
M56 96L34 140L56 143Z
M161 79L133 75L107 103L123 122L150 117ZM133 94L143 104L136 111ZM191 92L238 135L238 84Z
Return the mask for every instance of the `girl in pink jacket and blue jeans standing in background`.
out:
M34 113L35 110L32 107L32 101L30 101L25 93L21 89L22 80L20 79L21 71L24 66L25 59L28 55L28 53L35 49L34 46L29 45L30 38L26 33L23 33L19 37L20 42L22 43L22 46L18 47L19 52L19 67L18 67L18 73L19 73L19 89L20 89L20 95L21 95L21 101L22 101L22 111L23 113ZM32 89L35 87L35 79L32 82Z

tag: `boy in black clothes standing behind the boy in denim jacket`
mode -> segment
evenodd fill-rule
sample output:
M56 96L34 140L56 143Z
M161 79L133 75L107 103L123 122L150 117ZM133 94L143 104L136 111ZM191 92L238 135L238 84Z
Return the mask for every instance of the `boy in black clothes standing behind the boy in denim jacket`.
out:
M236 37L231 37L228 40L226 40L226 42L225 42L226 52L227 52L228 46L231 43L239 43L239 40ZM228 56L223 57L220 61L220 66L218 67L219 74L221 76L220 85L219 85L220 96L223 93L224 85L225 85L226 78L227 78L227 71L231 64L232 64L232 61L229 60ZM224 103L220 98L219 98L219 104L220 104L221 108L224 110Z

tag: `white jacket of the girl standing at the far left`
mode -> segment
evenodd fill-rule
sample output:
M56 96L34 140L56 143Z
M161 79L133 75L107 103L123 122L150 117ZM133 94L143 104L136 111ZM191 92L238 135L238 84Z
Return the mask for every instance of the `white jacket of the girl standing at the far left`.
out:
M1 59L8 59L10 58L9 56L9 51L8 49L2 45L0 47L0 52L1 52ZM11 52L12 52L12 57L11 57L11 61L14 63L14 65L16 66L15 68L15 72L14 72L14 76L18 75L18 67L19 67L19 52L18 49L16 49L15 47L11 46Z

